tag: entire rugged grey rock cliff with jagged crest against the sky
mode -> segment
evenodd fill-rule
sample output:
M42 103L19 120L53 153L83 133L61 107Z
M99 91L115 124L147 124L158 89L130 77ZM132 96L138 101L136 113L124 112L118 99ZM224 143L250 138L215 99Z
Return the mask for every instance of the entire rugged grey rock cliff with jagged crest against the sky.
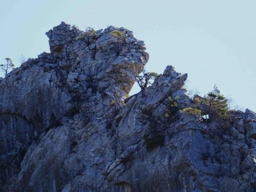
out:
M0 191L255 191L254 112L181 113L197 104L172 66L126 98L148 54L125 28L47 36L0 80Z

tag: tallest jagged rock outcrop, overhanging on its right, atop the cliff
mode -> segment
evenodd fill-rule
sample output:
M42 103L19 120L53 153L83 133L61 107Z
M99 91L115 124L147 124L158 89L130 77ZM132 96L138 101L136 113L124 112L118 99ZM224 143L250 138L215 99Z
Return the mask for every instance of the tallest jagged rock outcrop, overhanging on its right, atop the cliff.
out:
M112 35L115 31L122 35ZM81 31L76 26L61 22L46 34L53 56L62 60L74 58L73 64L78 64L77 69L84 69L85 75L93 76L97 81L114 80L120 84L123 95L129 93L135 75L142 72L149 58L143 41L137 40L132 31L123 27Z

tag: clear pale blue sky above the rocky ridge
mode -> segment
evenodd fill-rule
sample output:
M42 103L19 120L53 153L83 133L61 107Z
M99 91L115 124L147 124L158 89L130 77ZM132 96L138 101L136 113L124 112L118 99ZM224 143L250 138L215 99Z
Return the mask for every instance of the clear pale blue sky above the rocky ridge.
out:
M49 52L45 32L64 21L81 30L125 27L144 40L148 71L173 65L202 95L214 84L256 111L255 0L0 0L0 62ZM136 93L134 87L131 94Z

